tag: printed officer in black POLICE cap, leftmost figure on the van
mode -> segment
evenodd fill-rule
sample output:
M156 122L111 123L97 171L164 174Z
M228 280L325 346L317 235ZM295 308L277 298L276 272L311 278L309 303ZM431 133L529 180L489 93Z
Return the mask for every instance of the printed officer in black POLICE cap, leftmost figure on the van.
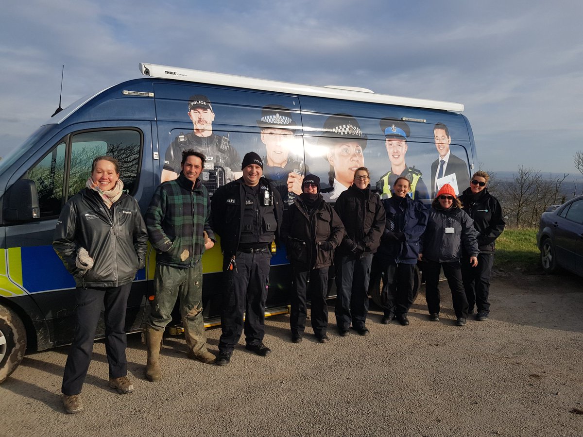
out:
M215 112L208 97L195 94L188 99L188 118L192 132L180 133L166 150L161 182L173 181L181 170L182 151L194 149L206 156L205 169L201 173L202 184L209 194L233 181L233 168L241 165L241 158L228 136L213 133Z

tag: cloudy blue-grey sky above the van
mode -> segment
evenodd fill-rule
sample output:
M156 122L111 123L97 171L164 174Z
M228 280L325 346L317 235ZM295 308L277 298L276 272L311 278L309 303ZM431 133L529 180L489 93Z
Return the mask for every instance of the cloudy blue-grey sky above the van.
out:
M30 0L0 16L0 156L139 62L465 105L487 170L577 172L583 2Z

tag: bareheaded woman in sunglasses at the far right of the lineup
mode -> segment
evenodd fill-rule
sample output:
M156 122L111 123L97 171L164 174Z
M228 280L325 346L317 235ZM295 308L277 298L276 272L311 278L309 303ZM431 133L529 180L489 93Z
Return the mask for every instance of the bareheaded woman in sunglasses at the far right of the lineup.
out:
M472 267L467 262L468 256L462 258L463 288L468 298L468 314L477 308L476 320L483 322L490 313L488 295L490 293L490 273L494 263L494 246L496 238L504 231L505 221L500 202L488 192L486 185L490 175L487 172L476 171L470 186L461 196L463 210L472 217L477 231L477 245L480 253L477 256L477 266Z

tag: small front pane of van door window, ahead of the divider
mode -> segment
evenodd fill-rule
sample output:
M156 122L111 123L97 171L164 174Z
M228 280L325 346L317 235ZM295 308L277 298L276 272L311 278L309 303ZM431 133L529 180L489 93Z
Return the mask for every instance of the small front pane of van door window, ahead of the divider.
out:
M28 178L36 184L41 217L57 216L61 212L65 148L64 142L59 143L29 170Z

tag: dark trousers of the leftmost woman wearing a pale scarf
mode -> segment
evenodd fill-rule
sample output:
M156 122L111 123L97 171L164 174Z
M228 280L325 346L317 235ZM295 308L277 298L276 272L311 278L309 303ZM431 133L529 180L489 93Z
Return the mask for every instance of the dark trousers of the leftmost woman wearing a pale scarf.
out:
M121 287L96 287L75 290L75 337L69 349L61 392L67 396L81 393L93 354L93 340L101 309L105 309L106 355L110 378L128 374L125 348L125 312L132 284Z

